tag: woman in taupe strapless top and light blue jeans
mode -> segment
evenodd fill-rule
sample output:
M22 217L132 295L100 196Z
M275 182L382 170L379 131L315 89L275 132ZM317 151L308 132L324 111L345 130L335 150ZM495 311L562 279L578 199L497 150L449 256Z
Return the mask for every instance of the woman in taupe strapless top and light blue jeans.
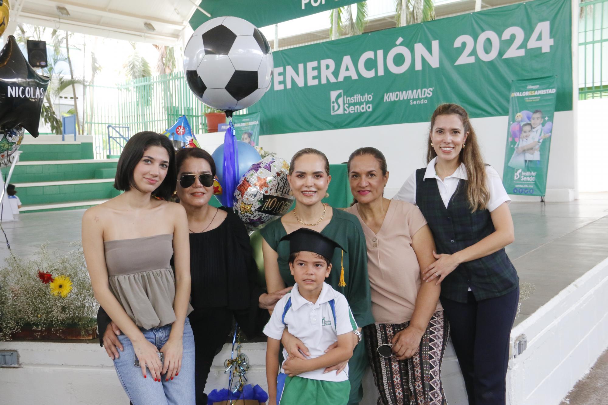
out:
M82 220L95 298L122 331L114 367L134 405L195 404L188 223L183 207L162 200L176 178L171 141L138 133L116 170L114 187L124 193Z

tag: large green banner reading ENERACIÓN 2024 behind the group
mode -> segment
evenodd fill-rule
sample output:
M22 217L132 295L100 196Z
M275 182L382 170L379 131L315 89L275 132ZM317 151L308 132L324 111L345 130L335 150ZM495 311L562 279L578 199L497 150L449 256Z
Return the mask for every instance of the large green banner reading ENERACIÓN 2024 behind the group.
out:
M426 122L439 103L506 116L511 81L557 76L572 110L570 0L537 0L274 52L261 134Z

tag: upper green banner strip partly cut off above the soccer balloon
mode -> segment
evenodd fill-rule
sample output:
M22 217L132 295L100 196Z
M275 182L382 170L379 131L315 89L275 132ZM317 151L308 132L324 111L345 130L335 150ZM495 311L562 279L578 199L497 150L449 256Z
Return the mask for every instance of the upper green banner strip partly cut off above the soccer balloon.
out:
M209 19L230 15L260 28L358 2L361 0L205 0L200 7L211 16L197 9L190 26L196 30Z

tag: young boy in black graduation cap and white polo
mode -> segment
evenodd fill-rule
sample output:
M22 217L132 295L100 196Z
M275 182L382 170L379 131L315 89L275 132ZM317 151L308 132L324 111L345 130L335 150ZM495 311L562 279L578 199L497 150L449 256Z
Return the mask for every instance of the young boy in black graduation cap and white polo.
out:
M268 404L347 404L348 365L341 373L324 373L326 367L351 358L351 333L358 328L346 298L324 282L331 272L334 249L344 249L306 228L295 230L282 240L289 240L289 270L295 285L277 302L264 327L264 334L268 336ZM302 341L310 356L306 360L287 358L287 351L283 350L286 360L278 373L278 350L285 328ZM336 341L337 347L325 353Z

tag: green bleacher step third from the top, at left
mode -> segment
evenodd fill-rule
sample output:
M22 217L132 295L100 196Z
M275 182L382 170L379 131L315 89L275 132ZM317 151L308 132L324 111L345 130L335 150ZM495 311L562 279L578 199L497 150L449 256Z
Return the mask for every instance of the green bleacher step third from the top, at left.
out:
M114 179L13 184L24 206L108 199L120 193L114 189Z

